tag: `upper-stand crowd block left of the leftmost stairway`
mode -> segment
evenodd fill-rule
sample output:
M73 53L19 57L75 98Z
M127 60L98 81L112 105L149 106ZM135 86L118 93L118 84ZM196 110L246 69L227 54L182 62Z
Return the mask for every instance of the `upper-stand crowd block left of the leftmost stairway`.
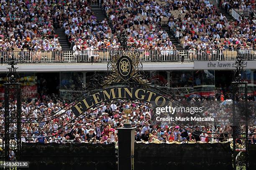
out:
M63 1L64 2L64 1ZM63 4L52 0L1 1L0 49L61 50L54 27L58 27Z

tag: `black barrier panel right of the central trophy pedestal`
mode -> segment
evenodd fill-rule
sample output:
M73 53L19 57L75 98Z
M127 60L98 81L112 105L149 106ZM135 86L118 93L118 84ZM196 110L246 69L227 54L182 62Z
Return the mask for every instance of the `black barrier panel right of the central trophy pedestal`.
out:
M134 170L232 170L230 143L135 143Z

